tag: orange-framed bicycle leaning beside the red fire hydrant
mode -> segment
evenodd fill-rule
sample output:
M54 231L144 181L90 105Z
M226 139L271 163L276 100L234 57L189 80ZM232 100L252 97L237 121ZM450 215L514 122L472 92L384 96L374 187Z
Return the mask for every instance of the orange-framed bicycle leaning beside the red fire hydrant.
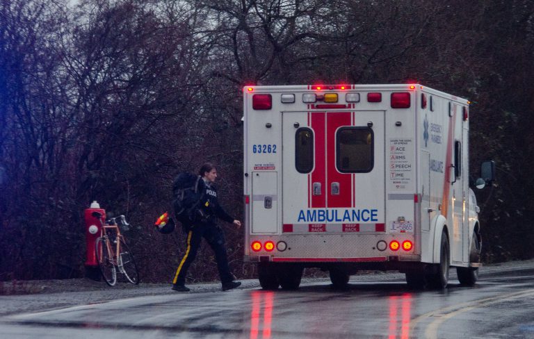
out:
M139 283L139 272L133 254L120 233L120 227L127 227L124 215L111 218L104 224L102 214L92 213L100 222L100 236L95 242L97 263L104 280L109 286L117 283L117 270L126 276L126 279L135 285Z

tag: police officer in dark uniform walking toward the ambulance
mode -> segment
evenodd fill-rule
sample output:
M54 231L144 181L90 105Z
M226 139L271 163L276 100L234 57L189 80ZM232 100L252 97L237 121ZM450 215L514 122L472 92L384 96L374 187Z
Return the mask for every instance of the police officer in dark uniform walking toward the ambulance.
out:
M206 239L211 249L215 253L217 268L219 271L220 281L223 283L223 290L232 290L241 285L241 282L233 281L234 276L230 273L228 265L225 234L223 229L217 225L217 218L225 222L232 222L237 227L241 227L241 222L228 215L219 205L217 199L217 190L213 182L217 179L217 169L211 163L205 163L200 167L200 176L204 180L204 194L201 201L202 208L199 213L202 215L199 222L194 222L188 227L187 249L184 258L182 258L172 281L172 290L178 292L187 292L189 288L185 286L186 273L197 255L198 247L202 238Z

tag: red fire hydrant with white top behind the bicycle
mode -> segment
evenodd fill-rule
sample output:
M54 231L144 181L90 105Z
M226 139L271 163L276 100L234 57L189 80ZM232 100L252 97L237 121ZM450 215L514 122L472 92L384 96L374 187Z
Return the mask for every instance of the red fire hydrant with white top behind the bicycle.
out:
M100 208L97 201L92 201L90 208L85 210L84 220L86 222L86 276L98 280L98 263L95 254L95 242L100 236L100 222L97 217L92 215L93 212L98 212L102 215L102 222L106 220L106 210Z

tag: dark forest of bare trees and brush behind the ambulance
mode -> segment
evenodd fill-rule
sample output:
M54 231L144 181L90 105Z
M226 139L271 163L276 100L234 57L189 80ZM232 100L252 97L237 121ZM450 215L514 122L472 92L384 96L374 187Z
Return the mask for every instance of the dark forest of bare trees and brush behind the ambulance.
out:
M0 280L81 277L83 210L124 214L144 281L184 235L172 179L216 163L243 220L243 85L418 82L471 101L485 263L534 257L534 1L0 0ZM238 278L243 229L224 226ZM209 249L193 281L217 278Z

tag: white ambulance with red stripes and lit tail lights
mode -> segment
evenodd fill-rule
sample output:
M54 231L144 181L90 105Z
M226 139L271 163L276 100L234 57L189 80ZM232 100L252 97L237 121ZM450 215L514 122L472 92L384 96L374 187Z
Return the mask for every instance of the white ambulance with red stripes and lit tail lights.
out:
M243 88L245 262L261 287L296 289L305 267L335 288L397 270L412 288L478 279L469 101L420 84Z

